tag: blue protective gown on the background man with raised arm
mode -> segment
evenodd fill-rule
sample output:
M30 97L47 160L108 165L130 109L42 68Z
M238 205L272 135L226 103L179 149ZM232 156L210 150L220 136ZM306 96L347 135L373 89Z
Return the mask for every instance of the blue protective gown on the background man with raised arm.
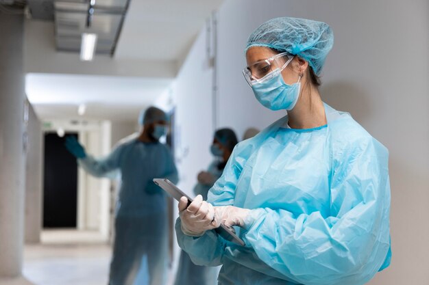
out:
M79 165L98 177L115 169L121 172L109 284L134 284L139 271L145 275L139 285L164 284L168 262L167 203L164 191L152 179L168 178L177 183L169 148L158 142L132 139L105 159L88 156L79 159Z

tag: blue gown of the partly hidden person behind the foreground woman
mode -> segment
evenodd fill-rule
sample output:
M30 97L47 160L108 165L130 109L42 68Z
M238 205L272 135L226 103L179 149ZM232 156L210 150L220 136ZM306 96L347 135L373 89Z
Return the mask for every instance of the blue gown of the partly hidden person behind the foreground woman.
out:
M218 167L219 161L213 161L208 167L207 172L212 174L215 179L222 175L223 169ZM213 185L197 183L194 187L195 195L203 196L207 200L207 193ZM218 267L206 267L196 265L183 250L180 252L179 267L175 277L175 285L215 285L217 284Z

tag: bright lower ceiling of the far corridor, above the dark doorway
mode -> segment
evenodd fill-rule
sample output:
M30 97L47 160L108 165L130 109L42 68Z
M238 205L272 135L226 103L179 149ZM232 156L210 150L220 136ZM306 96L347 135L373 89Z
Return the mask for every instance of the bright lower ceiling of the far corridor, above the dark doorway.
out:
M44 120L86 118L136 121L141 109L167 92L171 79L29 73L25 92ZM85 104L86 113L77 115Z

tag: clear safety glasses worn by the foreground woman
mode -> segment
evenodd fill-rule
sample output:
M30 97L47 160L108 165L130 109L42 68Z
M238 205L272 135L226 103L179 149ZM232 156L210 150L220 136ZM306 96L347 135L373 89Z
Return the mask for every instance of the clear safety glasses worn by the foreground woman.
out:
M244 78L250 87L256 83L268 81L278 72L282 72L292 59L293 55L290 53L279 53L267 59L262 59L243 70Z

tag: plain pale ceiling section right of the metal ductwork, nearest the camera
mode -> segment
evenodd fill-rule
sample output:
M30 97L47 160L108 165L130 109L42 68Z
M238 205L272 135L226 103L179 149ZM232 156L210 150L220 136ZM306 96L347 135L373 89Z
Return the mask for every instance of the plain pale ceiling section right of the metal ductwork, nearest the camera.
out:
M223 0L131 0L116 58L177 61Z

